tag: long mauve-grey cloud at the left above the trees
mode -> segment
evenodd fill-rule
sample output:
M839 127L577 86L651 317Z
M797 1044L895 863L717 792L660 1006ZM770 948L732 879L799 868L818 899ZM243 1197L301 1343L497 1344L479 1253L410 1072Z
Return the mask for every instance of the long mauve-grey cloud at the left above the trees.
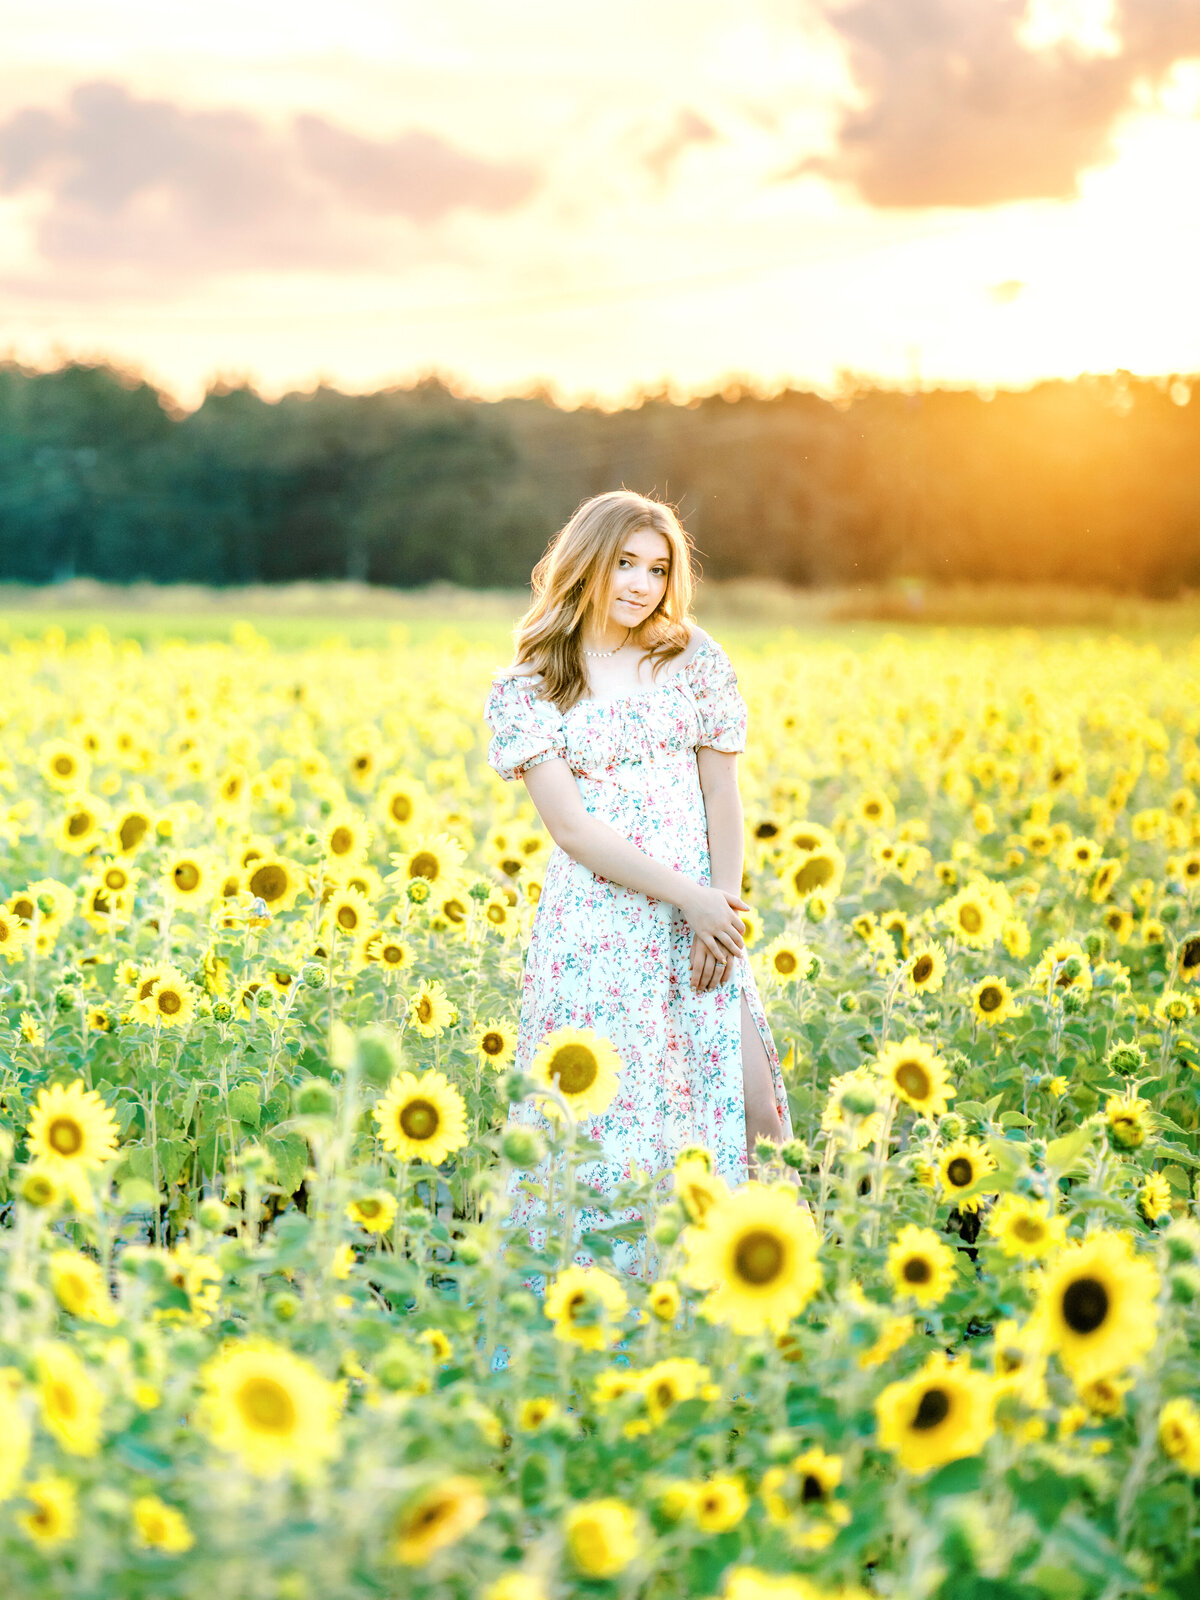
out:
M509 211L536 184L434 133L376 141L315 115L280 133L118 83L0 123L0 194L37 195L38 254L67 274L373 266L392 258L395 224Z

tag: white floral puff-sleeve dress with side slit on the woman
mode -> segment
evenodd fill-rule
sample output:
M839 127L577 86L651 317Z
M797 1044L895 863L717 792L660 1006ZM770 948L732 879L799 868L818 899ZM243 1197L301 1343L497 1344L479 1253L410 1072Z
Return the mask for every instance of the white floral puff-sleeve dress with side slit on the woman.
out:
M746 749L746 701L730 658L707 634L659 669L651 688L592 701L563 714L538 699L538 678L498 675L485 706L491 730L488 765L518 779L539 762L562 757L584 808L646 856L698 883L710 882L709 835L696 749ZM683 912L598 877L557 845L550 851L525 957L514 1069L528 1072L542 1038L560 1027L587 1027L621 1058L619 1086L608 1109L582 1118L579 1133L603 1155L578 1170L574 1237L603 1229L584 1205L586 1187L610 1194L622 1179L650 1176L661 1192L675 1157L706 1146L717 1173L738 1187L747 1179L742 1093L741 997L749 1002L774 1082L774 1101L792 1136L787 1090L754 973L744 957L725 984L691 989L693 933ZM550 1130L536 1101L510 1107L512 1123ZM546 1182L547 1162L509 1179L510 1221L533 1222L544 1202L523 1181ZM562 1214L562 1213L560 1213ZM614 1218L634 1219L635 1211ZM541 1235L541 1237L539 1237ZM531 1230L534 1248L544 1232ZM578 1250L576 1262L592 1256ZM614 1242L614 1264L640 1277L648 1254Z

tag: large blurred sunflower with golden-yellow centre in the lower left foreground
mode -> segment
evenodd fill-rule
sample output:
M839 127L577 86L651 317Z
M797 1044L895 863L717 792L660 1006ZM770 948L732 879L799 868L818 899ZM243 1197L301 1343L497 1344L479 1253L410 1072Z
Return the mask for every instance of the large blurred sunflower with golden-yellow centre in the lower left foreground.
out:
M336 1456L336 1384L267 1339L229 1341L200 1368L200 1426L248 1472L307 1474Z

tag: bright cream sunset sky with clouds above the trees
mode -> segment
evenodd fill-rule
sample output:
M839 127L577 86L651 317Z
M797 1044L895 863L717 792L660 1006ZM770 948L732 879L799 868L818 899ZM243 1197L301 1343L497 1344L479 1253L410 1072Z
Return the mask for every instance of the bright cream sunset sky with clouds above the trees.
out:
M1200 371L1200 0L3 0L0 354L194 406Z

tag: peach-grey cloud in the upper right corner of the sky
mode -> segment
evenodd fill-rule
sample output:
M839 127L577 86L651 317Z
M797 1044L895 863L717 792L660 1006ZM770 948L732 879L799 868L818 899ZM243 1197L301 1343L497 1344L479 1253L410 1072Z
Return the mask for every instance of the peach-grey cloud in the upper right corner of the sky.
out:
M1026 0L853 0L826 14L864 104L837 150L781 176L848 182L875 206L1066 200L1114 155L1139 78L1200 54L1200 0L1117 0L1118 54L1022 42Z

